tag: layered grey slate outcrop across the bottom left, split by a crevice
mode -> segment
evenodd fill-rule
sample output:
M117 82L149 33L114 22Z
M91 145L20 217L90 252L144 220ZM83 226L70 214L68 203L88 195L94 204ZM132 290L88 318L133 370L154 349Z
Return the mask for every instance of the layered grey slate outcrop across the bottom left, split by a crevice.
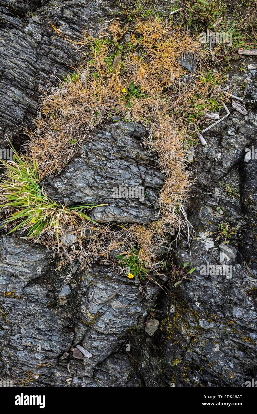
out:
M0 240L0 379L14 387L140 386L119 351L129 330L143 330L159 286L148 283L143 296L137 281L94 266L70 282L66 306L58 302L62 274L48 257L18 236Z

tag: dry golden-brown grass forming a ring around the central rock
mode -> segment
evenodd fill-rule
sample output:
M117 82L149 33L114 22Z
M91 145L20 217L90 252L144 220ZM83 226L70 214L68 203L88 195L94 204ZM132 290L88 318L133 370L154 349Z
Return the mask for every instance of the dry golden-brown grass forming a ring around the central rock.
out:
M130 40L125 41L124 36ZM198 39L156 19L137 19L132 27L114 20L99 39L85 36L73 43L77 51L91 48L91 60L81 62L76 74L58 86L42 90L41 118L35 120L34 131L27 131L29 140L23 147L26 157L37 165L40 179L58 173L88 131L118 115L141 122L148 129L149 138L144 144L155 152L166 182L159 195L156 221L150 225L114 230L87 223L84 231L80 222L67 220L62 233L74 234L76 241L65 244L49 234L43 243L61 256L61 264L71 269L76 260L84 267L92 260L106 261L120 251L129 255L131 246L136 245L142 263L154 269L157 250L167 242L167 233L172 228L178 232L188 229L183 203L192 178L187 165L190 147L185 125L192 105L198 108L206 104L207 108L207 100L215 96L211 83L199 81L201 73L208 69L207 53ZM181 59L188 53L198 73L191 82L185 82L183 75L188 72L181 66Z

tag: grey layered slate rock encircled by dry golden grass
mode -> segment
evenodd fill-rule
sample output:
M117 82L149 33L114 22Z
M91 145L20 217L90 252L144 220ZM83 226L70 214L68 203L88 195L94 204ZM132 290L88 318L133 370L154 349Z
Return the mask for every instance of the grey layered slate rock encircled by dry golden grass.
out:
M96 207L91 218L101 222L147 223L155 219L162 174L145 152L145 130L135 123L103 124L92 132L73 160L44 188L55 201Z

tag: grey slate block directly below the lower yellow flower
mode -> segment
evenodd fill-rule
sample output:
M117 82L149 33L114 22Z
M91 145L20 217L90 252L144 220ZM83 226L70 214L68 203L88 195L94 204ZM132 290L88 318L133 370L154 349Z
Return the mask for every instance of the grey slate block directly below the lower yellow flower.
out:
M143 329L144 315L155 302L159 286L148 283L145 294L142 295L138 293L138 281L128 280L125 274L119 275L114 270L108 271L102 266L89 268L81 277L80 283L80 308L79 317L75 320L75 343L81 344L91 356L85 356L83 361L72 356L70 371L76 377L73 386L91 387L97 385L94 380L95 370L98 369L96 367L111 354L122 349L129 330L138 325ZM105 363L105 367L107 369L109 363ZM120 369L123 371L124 368ZM130 371L131 368L126 368L127 374ZM112 376L111 373L106 374L108 375ZM98 377L100 376L98 369ZM126 381L127 377L124 386ZM104 386L102 380L99 379L99 382L98 386Z

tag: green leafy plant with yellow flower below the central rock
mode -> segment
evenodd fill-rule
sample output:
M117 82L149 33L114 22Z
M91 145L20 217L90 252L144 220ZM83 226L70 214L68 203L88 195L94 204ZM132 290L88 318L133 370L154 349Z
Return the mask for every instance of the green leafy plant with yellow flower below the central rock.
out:
M136 280L145 280L144 276L147 276L148 270L144 267L138 255L138 251L132 246L127 255L124 253L124 255L117 255L116 258L119 259L119 265L126 269L127 274L133 275Z

